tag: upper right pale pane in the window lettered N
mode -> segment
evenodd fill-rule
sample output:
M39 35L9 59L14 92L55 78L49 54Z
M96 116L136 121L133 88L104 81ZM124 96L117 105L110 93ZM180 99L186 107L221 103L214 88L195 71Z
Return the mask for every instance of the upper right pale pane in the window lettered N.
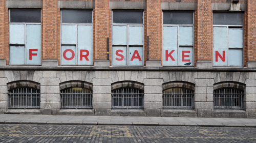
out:
M228 30L228 47L243 48L243 30L242 29Z

